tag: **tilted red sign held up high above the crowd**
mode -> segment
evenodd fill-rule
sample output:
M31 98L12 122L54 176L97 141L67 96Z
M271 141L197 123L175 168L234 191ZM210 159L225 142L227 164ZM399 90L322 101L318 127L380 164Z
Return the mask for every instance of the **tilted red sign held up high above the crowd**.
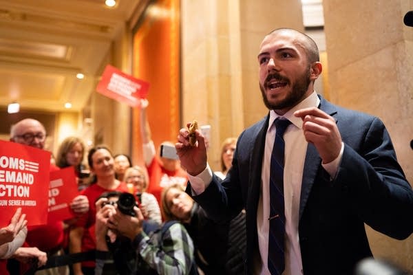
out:
M106 66L96 87L96 91L100 94L129 104L131 107L139 106L139 99L146 98L148 89L149 83L125 74L111 65Z

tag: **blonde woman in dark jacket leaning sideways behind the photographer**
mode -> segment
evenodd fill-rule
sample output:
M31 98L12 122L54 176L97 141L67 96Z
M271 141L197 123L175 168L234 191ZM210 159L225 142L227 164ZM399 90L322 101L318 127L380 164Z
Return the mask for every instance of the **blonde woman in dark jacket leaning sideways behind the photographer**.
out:
M195 245L195 261L204 274L245 274L245 215L215 222L179 184L162 191L166 221L180 221Z

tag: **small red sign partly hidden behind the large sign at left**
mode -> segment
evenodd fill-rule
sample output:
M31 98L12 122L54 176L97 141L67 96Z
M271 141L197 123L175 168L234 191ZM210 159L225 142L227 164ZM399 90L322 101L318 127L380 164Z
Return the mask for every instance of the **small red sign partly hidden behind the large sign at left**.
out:
M70 202L78 195L74 167L50 172L49 221L63 221L73 217Z

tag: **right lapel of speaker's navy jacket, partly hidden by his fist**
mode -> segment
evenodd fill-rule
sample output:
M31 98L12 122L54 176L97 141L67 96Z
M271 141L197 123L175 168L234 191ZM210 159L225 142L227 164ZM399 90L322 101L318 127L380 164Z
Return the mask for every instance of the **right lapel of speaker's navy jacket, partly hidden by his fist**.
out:
M337 109L333 104L319 96L320 104L319 109L328 113L335 117L337 115ZM335 117L337 123L337 117ZM303 179L301 182L301 196L299 201L299 219L301 219L301 214L304 212L304 208L306 207L306 203L308 200L308 196L310 195L311 188L315 182L315 178L317 177L317 171L321 166L321 158L319 157L319 153L313 144L308 144L307 146L307 153L306 153L306 160L304 162L304 170L303 170Z

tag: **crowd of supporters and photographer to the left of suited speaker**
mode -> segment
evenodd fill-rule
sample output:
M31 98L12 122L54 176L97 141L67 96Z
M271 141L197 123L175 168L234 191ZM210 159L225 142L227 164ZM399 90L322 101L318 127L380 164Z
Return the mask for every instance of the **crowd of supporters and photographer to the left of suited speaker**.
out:
M244 214L224 223L207 217L184 192L188 177L179 159L156 153L146 114L149 102L141 103L145 166L133 165L129 155L113 154L105 145L87 148L81 137L66 137L52 154L49 170L74 168L79 194L70 203L74 217L27 226L19 208L0 229L0 274L243 273ZM32 118L10 129L11 142L42 150L46 136L45 126ZM164 144L174 148L171 141ZM226 170L234 148L235 142L231 149L222 148ZM53 266L56 256L73 255L83 258Z

